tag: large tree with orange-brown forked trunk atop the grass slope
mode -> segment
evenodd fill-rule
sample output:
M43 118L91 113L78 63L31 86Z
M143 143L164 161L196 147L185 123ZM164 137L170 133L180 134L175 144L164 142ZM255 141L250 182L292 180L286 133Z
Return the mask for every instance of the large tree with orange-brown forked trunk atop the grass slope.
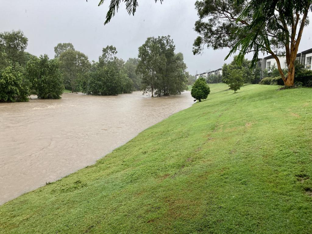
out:
M228 56L239 51L239 61L252 52L253 66L259 52L268 53L275 58L285 86L293 86L295 58L308 24L311 0L206 0L197 1L195 6L199 15L195 31L200 36L194 42L194 54L200 53L205 44L213 49L229 47ZM286 56L287 76L281 69L279 55Z

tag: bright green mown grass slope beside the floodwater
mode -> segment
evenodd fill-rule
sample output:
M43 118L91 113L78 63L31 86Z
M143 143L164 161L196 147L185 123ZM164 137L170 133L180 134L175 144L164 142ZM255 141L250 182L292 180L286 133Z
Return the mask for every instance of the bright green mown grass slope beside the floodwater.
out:
M95 165L2 205L0 232L311 233L312 89L210 89Z

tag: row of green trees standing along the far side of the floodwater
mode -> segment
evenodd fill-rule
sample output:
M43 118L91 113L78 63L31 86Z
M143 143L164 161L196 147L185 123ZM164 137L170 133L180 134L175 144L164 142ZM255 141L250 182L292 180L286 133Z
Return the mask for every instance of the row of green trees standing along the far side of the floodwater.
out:
M175 53L170 36L149 37L138 58L124 61L115 46L106 46L98 61L71 43L54 47L53 59L26 52L28 39L20 30L0 33L0 101L58 99L64 89L89 95L118 95L135 90L152 97L178 95L187 89L188 72L182 53Z

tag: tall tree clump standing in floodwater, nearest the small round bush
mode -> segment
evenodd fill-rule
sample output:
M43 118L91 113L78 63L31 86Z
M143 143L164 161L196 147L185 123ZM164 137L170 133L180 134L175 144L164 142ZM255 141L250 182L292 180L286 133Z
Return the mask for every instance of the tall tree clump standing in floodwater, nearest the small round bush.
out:
M187 89L183 54L175 54L174 50L170 36L149 37L139 47L137 72L142 75L144 92L151 92L152 97L177 95Z

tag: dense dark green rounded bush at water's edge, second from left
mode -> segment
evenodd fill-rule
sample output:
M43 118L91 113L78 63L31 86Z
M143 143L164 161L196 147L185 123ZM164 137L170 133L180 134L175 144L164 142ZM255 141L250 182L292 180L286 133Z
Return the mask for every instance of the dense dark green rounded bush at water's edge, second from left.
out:
M59 99L64 90L63 79L56 59L41 55L27 63L27 76L38 98Z

